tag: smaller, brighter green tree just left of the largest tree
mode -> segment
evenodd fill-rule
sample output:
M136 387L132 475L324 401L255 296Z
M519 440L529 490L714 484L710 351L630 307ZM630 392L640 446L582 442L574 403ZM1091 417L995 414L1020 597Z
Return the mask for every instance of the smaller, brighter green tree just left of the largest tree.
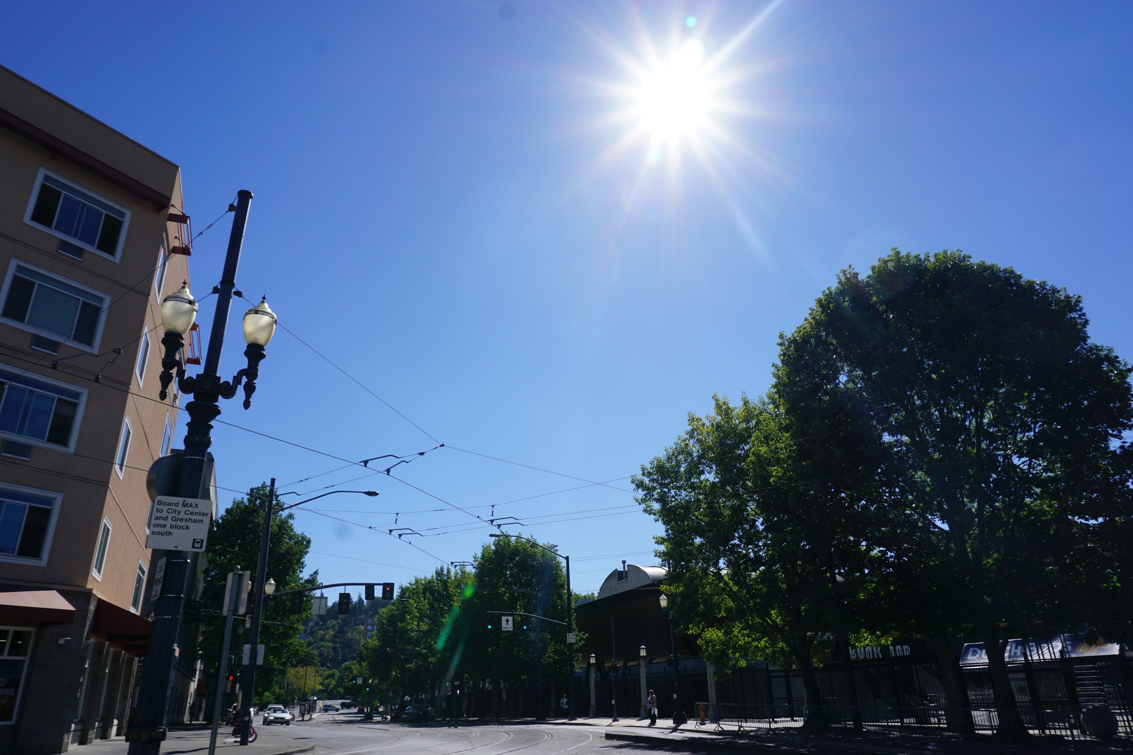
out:
M837 432L826 420L826 434ZM716 397L714 413L690 415L633 483L665 527L664 589L685 629L724 668L757 658L798 666L815 726L819 652L840 629L884 628L866 606L888 566L868 544L868 499L846 484L862 477L863 454L809 453L792 429L774 395Z

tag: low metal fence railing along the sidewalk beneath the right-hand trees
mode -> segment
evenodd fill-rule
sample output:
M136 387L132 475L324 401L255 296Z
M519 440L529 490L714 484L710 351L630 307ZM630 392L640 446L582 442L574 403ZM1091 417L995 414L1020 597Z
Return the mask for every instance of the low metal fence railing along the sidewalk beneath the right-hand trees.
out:
M850 707L843 705L808 706L801 714L789 715L783 705L718 703L717 728L735 726L738 730L862 731L909 737L966 735L988 738L1007 745L1073 744L1109 740L1133 744L1133 715L1090 706L1084 711L1067 709L1021 710L1000 714L995 709L957 707ZM708 703L693 705L693 722L699 724L700 711L712 717ZM707 721L706 721L707 722Z

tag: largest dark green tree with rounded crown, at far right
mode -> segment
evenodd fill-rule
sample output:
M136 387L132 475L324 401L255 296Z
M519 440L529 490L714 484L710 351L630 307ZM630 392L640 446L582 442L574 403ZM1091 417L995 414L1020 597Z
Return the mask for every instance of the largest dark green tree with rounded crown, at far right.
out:
M775 372L791 421L830 396L853 407L894 517L919 525L900 555L922 565L910 620L983 641L1016 729L1003 641L1130 636L1131 370L1088 324L1080 297L1011 268L894 250L838 275Z

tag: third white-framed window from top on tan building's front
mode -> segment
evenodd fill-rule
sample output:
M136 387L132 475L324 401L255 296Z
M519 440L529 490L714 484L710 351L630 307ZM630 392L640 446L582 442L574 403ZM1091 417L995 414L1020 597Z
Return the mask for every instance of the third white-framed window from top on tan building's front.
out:
M0 436L71 451L86 392L0 367Z

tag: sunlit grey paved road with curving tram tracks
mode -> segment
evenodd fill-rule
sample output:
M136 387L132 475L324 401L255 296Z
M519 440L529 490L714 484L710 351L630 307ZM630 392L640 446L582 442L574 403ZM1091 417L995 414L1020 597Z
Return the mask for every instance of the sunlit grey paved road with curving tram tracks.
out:
M271 727L295 739L297 746L315 745L316 755L606 755L648 752L646 745L607 741L597 727L561 724L420 724L363 723L357 713L322 714L290 727ZM284 730L286 729L286 730ZM680 753L672 747L665 753ZM692 750L690 750L692 752Z

